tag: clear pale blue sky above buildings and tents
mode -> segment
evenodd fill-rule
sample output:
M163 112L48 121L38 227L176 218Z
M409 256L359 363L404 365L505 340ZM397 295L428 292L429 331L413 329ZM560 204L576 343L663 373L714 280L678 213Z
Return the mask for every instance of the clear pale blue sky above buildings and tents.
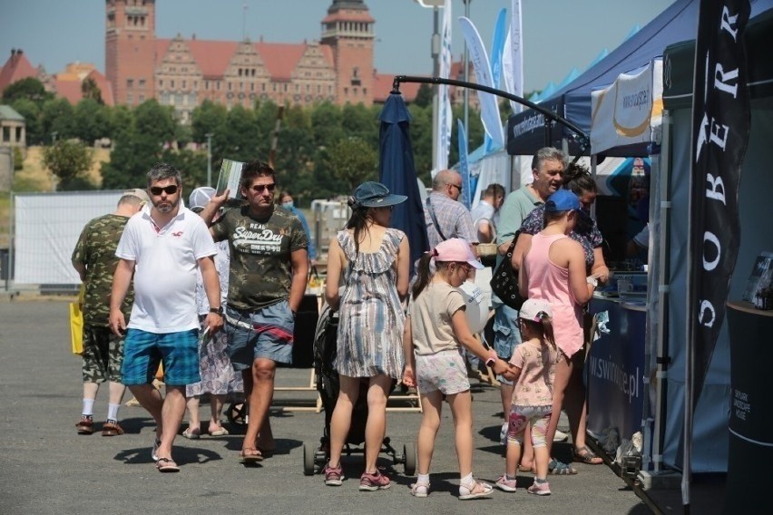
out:
M637 25L648 24L672 0L521 0L524 91L581 72L603 49L612 51ZM330 0L156 0L156 36L301 43L320 37ZM244 6L247 6L245 9ZM378 73L432 73L433 11L415 0L366 0L376 19ZM469 0L470 19L491 47L494 21L511 0ZM452 0L452 50L461 60L457 18L465 0ZM21 48L47 73L67 63L94 63L104 72L104 0L0 0L0 64ZM442 20L442 12L441 12ZM692 39L695 34L685 34Z

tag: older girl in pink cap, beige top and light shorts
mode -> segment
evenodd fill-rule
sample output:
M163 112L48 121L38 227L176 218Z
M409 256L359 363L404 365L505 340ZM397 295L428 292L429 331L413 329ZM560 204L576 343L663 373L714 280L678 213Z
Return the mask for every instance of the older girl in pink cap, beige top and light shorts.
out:
M430 277L430 261L436 267L433 277ZM459 499L486 497L493 490L491 485L473 479L472 396L462 347L479 356L497 374L504 374L509 366L493 351L486 350L467 326L465 300L458 287L473 267L483 268L483 265L475 259L470 244L459 238L446 239L418 264L403 337L406 355L403 383L418 386L424 408L418 433L418 479L411 485L411 494L416 497L426 497L429 492L429 467L435 435L440 428L443 395L454 414L461 477Z

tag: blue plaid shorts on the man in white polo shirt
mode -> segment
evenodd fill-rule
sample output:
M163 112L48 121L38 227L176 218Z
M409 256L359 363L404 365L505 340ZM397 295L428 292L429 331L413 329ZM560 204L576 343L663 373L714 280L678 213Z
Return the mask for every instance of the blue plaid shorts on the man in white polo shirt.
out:
M156 334L129 329L123 344L123 384L152 383L161 362L165 384L184 386L201 381L199 330Z

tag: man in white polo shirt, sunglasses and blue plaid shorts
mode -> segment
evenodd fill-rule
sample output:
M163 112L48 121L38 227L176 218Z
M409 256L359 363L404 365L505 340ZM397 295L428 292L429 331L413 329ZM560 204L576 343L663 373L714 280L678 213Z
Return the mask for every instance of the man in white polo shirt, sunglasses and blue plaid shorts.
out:
M115 256L110 328L126 334L122 379L157 424L152 458L161 472L180 471L171 445L185 413L185 386L199 376L199 317L196 272L201 269L210 303L205 325L210 335L223 326L220 281L213 257L217 248L207 224L181 204L179 170L158 163L148 171L152 206L134 215L123 230ZM134 281L134 305L127 325L123 297ZM152 386L164 365L166 395Z

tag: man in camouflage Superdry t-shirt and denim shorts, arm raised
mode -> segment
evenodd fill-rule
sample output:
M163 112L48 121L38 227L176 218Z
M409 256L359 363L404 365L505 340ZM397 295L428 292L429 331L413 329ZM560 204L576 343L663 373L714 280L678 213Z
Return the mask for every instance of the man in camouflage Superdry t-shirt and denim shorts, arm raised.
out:
M241 371L250 417L243 462L259 462L275 443L269 424L277 363L292 362L295 315L306 291L308 238L300 220L274 205L274 170L259 160L245 163L241 195L247 204L230 209L210 231L230 247L226 325L234 370ZM212 197L201 218L211 220L228 199Z

